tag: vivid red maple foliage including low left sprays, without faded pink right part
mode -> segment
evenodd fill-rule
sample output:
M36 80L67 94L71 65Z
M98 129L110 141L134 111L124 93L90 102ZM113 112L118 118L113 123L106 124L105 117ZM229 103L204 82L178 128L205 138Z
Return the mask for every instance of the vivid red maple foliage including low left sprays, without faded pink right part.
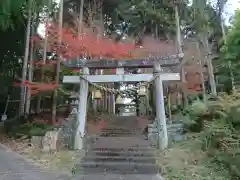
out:
M134 43L116 43L111 39L99 38L97 34L94 34L87 29L80 36L76 35L76 32L71 28L62 29L62 43L59 45L58 35L59 29L57 24L52 24L47 27L48 31L48 51L57 54L57 58L61 59L61 62L67 60L76 60L78 57L87 57L87 59L123 59L132 58L131 51L134 51L137 47ZM39 36L32 37L36 45L41 48L43 39ZM45 63L42 60L35 61L35 65L38 68L45 68L56 64L57 61L47 59ZM76 70L75 70L76 71ZM59 87L59 84L37 83L24 81L21 83L15 83L15 86L26 86L31 91L31 95L37 95L40 92L52 91Z

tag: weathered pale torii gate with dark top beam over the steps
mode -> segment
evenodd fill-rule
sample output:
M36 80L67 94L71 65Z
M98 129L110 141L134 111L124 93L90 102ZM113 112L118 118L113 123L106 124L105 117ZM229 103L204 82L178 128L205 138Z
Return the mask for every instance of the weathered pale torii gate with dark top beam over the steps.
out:
M180 80L179 73L163 73L161 67L176 66L181 62L183 54L172 55L168 57L155 57L151 59L136 60L78 60L77 62L65 62L65 66L69 68L83 68L84 79L92 83L107 82L142 82L149 81L153 77L155 81L156 92L156 120L159 124L159 144L161 149L165 149L168 145L166 115L164 108L163 81ZM113 69L116 68L115 75L89 75L90 69ZM124 68L154 68L153 74L124 74ZM75 136L75 149L83 148L83 138L85 135L85 124L87 114L87 95L88 82L79 76L64 76L63 83L80 84L79 105L77 124L78 127Z

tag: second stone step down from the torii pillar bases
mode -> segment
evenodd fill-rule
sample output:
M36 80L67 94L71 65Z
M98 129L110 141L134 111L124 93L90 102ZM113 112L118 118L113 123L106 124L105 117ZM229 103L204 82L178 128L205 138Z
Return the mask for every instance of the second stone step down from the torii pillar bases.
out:
M84 161L95 162L134 162L134 163L148 163L155 164L156 159L154 157L134 157L134 156L87 156Z

